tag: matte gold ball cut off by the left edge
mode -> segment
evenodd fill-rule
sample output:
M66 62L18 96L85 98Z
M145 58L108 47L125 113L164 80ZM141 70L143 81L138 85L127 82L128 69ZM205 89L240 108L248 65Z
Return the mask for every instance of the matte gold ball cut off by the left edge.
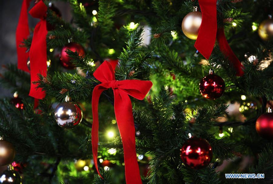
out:
M10 164L15 157L15 148L8 142L0 139L0 166Z

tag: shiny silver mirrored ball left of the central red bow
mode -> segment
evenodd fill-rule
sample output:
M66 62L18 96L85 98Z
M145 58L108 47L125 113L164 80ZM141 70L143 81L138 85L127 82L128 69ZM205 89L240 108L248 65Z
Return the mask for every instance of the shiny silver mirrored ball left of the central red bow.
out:
M55 120L62 128L74 128L83 119L83 111L75 102L71 102L71 98L66 96L65 102L57 105L54 111Z

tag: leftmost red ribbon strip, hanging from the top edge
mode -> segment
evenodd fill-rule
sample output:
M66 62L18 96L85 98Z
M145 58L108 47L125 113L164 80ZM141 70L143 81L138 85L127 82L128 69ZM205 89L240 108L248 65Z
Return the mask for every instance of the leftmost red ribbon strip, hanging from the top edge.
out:
M20 12L20 17L18 25L16 28L16 48L17 48L17 58L18 58L18 68L29 72L27 66L27 59L29 53L26 53L27 48L20 47L24 39L27 39L29 36L29 21L28 21L28 8L31 0L23 0L22 8Z

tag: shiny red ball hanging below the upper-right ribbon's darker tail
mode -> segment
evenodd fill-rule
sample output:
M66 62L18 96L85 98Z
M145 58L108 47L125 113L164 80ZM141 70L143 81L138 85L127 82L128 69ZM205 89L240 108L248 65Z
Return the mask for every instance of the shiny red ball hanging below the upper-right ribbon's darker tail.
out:
M201 80L199 90L203 97L215 100L224 94L225 83L220 76L215 75L214 71L210 70L209 75Z

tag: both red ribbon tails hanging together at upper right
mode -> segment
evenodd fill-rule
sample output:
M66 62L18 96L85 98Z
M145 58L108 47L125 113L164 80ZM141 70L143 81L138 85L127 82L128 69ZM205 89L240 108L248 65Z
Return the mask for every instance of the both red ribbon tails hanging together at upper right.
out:
M198 32L195 48L206 58L209 59L214 48L215 39L221 52L230 61L236 70L236 76L244 74L244 66L227 43L224 28L217 29L217 0L198 0L202 12L202 22Z

